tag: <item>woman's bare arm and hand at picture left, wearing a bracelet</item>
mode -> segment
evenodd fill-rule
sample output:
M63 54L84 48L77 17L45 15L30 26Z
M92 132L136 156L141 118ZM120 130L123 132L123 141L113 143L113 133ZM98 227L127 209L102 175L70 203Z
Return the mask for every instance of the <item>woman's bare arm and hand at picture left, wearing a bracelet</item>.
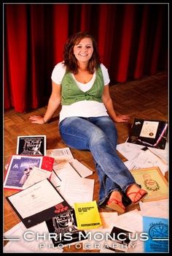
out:
M52 94L48 101L47 111L44 114L44 117L30 116L29 119L34 124L47 123L47 121L50 121L50 118L52 118L53 114L55 113L55 110L58 109L60 102L61 102L61 86L52 81Z

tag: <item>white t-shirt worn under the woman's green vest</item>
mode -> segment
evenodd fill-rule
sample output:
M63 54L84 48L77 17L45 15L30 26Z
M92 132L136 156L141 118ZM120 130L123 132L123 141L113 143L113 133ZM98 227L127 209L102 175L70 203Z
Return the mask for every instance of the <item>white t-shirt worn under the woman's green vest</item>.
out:
M106 67L101 64L101 71L103 73L103 81L104 85L108 85L110 82L109 73ZM54 69L52 70L52 81L61 84L63 76L65 75L66 67L62 62L59 62L55 65ZM88 83L80 83L76 80L73 74L71 74L74 80L77 83L77 86L82 91L88 91L93 86L93 83L96 78L96 72L93 74L93 78ZM79 102L75 102L71 105L62 105L60 110L60 120L62 121L64 118L69 116L82 116L82 117L95 117L95 116L109 116L103 102L96 102L94 100L82 100Z

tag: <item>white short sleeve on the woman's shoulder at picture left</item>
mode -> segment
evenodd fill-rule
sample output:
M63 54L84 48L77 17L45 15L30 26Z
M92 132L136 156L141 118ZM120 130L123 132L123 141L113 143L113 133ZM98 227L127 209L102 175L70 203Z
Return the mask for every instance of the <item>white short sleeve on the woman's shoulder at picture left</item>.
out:
M65 75L66 67L63 64L63 61L59 62L55 65L54 69L52 70L51 79L53 82L57 84L61 84L63 76Z

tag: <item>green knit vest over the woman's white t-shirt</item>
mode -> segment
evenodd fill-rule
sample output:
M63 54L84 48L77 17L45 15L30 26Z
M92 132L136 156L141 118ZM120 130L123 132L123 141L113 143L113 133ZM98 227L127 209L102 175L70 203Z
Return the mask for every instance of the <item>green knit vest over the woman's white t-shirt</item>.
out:
M101 67L96 71L95 81L88 91L84 92L79 89L70 72L66 72L63 76L61 86L61 105L71 105L74 102L79 102L85 99L102 102L101 97L103 94L104 84Z

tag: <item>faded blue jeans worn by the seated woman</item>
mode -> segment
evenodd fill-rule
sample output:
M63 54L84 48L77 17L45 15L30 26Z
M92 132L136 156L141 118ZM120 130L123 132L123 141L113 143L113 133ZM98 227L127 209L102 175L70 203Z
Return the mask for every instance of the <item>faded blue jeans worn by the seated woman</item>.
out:
M114 190L125 197L126 189L136 181L117 155L117 129L112 119L68 117L60 121L59 131L66 145L93 154L100 183L98 205L105 203Z

